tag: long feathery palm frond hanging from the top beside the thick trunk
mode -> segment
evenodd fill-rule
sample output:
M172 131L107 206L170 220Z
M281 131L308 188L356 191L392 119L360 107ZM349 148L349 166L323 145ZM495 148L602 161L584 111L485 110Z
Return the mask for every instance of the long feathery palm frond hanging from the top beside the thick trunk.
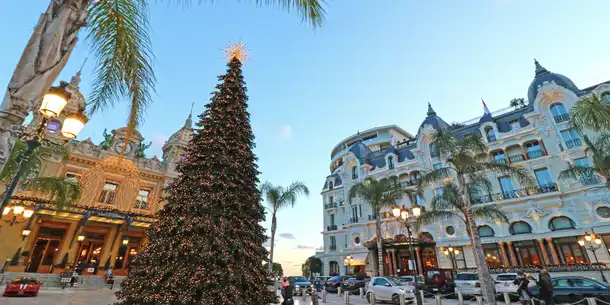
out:
M141 125L156 78L146 0L98 1L89 8L89 35L97 57L90 114L130 99L127 139Z

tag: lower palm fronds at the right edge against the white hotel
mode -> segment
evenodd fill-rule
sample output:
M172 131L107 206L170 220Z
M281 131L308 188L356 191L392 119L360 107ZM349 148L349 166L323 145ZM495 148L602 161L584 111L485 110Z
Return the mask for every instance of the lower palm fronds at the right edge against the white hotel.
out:
M592 166L571 165L559 173L559 179L593 178L600 175L606 179L606 185L610 187L610 134L602 133L595 142L584 136L587 148L585 153L591 155Z

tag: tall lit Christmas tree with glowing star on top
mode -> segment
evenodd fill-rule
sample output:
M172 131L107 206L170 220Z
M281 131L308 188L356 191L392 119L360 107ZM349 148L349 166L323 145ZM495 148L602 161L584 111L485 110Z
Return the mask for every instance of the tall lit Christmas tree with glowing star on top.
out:
M241 71L243 45L199 116L193 139L166 189L167 204L130 265L120 304L274 303L263 267L267 237L257 188L254 135Z

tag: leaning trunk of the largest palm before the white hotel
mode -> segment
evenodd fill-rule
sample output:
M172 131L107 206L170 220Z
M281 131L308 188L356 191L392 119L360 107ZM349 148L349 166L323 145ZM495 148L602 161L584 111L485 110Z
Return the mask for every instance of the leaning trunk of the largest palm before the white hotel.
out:
M496 296L494 293L494 283L491 280L491 274L489 272L489 266L487 266L485 260L485 252L483 252L483 246L481 245L481 238L477 231L477 223L472 213L472 204L466 191L466 182L463 175L458 175L458 187L459 193L462 196L462 200L466 206L466 225L470 229L470 238L472 240L472 249L477 264L477 274L479 275L479 281L481 281L481 290L483 294L483 302L487 305L496 304Z

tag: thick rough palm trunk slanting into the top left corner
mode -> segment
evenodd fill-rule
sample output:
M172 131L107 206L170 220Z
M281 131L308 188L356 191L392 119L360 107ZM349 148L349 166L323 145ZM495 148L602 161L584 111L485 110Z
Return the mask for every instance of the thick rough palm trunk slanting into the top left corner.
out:
M15 145L15 131L68 62L85 25L89 0L50 0L21 54L0 105L0 171Z

